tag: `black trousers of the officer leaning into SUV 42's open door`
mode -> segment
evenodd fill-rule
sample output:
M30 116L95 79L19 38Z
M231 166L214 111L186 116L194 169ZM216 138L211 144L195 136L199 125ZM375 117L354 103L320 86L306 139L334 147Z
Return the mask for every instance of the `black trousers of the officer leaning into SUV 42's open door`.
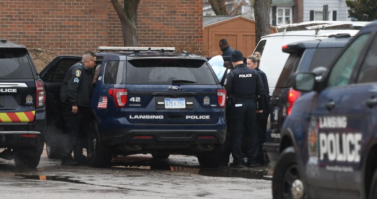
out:
M83 133L82 120L86 107L78 106L76 114L72 114L72 106L63 104L63 118L65 123L64 139L63 139L63 158L71 159L73 150L75 159L81 161L83 155Z

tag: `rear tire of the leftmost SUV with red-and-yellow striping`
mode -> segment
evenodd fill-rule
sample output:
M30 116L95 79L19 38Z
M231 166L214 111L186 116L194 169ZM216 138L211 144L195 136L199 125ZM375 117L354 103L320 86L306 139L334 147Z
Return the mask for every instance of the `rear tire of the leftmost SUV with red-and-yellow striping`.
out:
M35 169L41 159L41 155L34 153L35 149L15 149L14 164L20 169Z

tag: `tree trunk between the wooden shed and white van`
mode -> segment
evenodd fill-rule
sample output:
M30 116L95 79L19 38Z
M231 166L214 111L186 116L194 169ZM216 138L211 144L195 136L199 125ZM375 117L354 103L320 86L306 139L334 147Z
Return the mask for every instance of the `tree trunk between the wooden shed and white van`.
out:
M259 43L262 36L269 35L270 29L270 7L272 0L254 0L255 16L255 44Z

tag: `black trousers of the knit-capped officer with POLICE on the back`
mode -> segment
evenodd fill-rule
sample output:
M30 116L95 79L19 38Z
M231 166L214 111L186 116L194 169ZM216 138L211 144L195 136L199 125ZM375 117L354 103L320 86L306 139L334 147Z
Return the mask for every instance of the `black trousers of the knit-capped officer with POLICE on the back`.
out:
M258 155L258 135L256 131L256 102L244 100L234 103L230 112L232 131L233 163L242 164L244 154L241 151L242 133L247 136L247 161L255 163Z

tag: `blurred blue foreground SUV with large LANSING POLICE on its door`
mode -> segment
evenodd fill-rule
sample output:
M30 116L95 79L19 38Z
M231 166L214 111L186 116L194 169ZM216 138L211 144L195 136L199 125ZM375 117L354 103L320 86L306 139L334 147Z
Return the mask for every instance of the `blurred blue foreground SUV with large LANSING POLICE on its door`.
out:
M274 199L377 198L377 22L363 27L322 79L298 73L282 126Z

